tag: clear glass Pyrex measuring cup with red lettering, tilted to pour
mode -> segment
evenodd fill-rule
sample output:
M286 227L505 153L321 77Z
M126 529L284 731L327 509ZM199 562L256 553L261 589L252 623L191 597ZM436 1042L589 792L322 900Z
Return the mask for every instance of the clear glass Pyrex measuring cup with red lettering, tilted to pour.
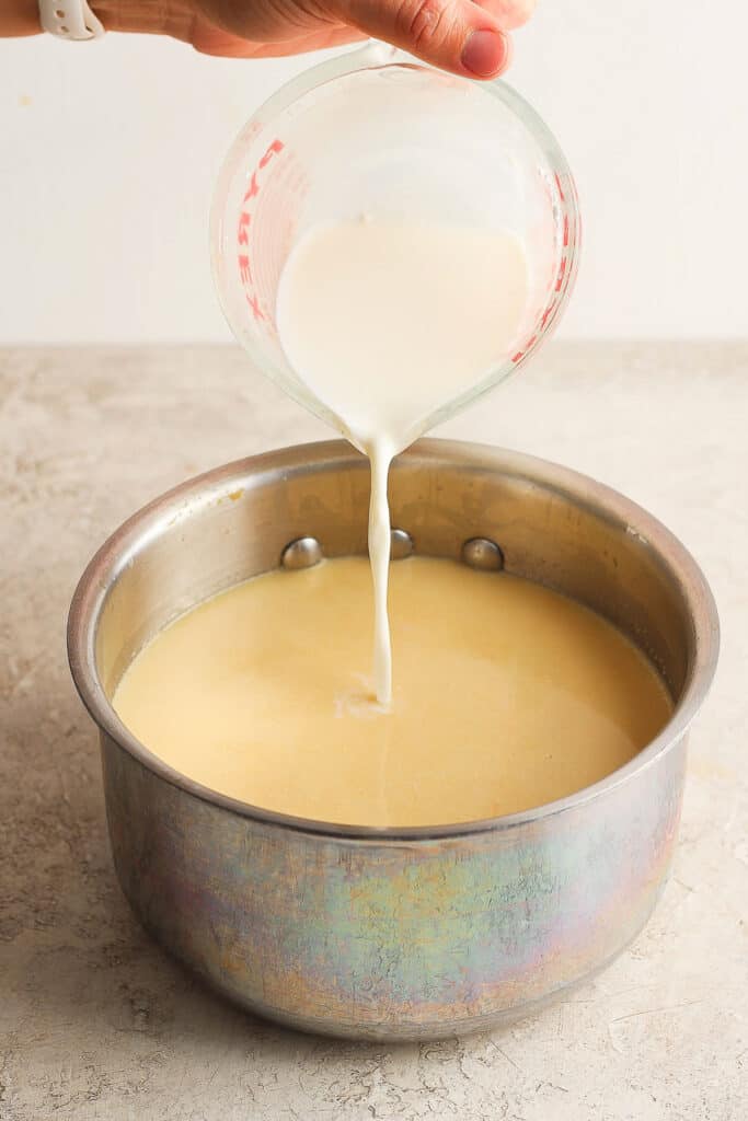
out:
M219 296L258 368L338 426L284 354L276 298L311 226L361 216L508 230L526 248L529 298L512 345L424 417L424 432L516 370L558 321L579 254L574 183L548 129L504 82L453 77L380 44L307 71L258 110L214 197Z

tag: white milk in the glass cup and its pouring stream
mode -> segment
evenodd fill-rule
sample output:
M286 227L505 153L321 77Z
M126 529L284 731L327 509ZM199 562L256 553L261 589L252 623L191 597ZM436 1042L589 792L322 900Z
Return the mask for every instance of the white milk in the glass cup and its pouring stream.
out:
M288 361L371 463L375 687L391 697L387 618L394 455L517 343L529 278L506 231L390 221L313 228L292 251L276 318Z

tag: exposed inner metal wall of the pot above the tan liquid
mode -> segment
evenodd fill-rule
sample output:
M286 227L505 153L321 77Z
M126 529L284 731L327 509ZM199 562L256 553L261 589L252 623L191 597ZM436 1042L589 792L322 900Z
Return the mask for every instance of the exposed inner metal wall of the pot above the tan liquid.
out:
M506 572L599 612L680 700L696 656L699 589L689 578L701 577L644 510L553 464L442 441L399 456L389 491L391 524L407 530L416 554L459 559L465 540L492 539ZM107 697L155 633L277 567L289 541L316 537L327 557L366 554L368 503L368 462L335 442L219 469L136 515L92 562L93 654Z

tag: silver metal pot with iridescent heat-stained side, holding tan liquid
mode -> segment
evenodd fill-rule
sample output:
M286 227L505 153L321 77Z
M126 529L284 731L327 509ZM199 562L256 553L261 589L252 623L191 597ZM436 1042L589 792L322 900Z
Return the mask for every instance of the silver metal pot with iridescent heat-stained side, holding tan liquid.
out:
M332 1035L423 1039L526 1015L640 930L671 864L686 732L719 631L683 546L639 507L563 467L424 441L396 461L390 494L393 525L417 553L460 558L467 540L489 538L508 572L627 632L676 702L657 739L551 805L390 830L236 802L139 743L110 698L160 628L277 566L297 538L317 538L331 557L366 552L368 464L343 443L219 467L137 513L83 575L68 650L101 730L114 867L147 929L264 1016Z

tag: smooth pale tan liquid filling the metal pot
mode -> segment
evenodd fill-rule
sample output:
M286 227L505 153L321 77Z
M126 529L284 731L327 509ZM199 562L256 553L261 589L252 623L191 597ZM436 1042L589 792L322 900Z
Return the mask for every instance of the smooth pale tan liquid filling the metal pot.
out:
M393 565L395 688L369 703L363 558L278 571L172 624L114 696L190 778L355 825L434 825L537 806L626 763L665 688L613 627L555 592L450 560Z

